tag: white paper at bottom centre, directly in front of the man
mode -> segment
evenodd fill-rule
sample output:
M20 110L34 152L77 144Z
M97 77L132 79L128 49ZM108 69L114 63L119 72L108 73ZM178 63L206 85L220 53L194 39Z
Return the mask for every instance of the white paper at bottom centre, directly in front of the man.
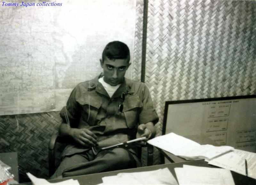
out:
M168 168L148 172L119 173L102 178L103 184L178 184Z

